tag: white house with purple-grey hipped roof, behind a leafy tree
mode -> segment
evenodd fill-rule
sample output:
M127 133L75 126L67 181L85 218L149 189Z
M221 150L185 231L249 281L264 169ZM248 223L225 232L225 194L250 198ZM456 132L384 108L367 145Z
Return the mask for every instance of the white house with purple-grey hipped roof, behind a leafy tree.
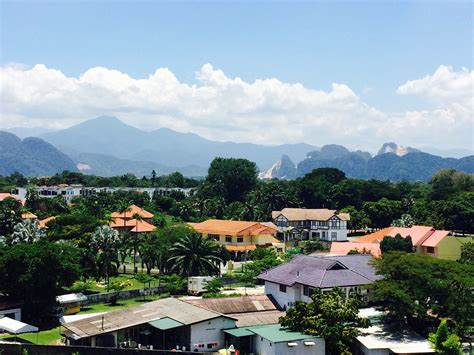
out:
M265 282L265 294L275 299L282 309L291 307L296 301L310 302L314 290L324 293L335 287L342 288L346 297L357 292L369 301L368 286L380 279L370 264L371 259L370 255L297 255L257 278Z

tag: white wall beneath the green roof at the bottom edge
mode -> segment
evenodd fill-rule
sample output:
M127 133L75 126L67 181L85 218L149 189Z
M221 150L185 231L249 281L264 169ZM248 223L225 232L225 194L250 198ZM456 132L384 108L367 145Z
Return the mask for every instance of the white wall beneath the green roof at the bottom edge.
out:
M313 341L315 345L306 346L305 341ZM324 355L326 353L324 340L321 338L308 338L292 341L297 346L290 347L288 342L272 343L258 335L254 336L255 355Z

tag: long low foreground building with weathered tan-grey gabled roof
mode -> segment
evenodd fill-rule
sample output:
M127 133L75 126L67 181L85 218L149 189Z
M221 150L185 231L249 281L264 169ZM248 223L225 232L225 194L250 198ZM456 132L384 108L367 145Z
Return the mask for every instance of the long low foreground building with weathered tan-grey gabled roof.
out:
M225 346L222 330L235 328L227 315L164 298L63 324L68 345L182 349L212 352Z

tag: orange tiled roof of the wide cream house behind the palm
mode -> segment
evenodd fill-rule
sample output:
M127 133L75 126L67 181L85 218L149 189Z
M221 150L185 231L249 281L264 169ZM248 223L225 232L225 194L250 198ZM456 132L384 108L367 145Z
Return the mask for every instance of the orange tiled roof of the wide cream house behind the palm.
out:
M276 229L259 222L228 221L223 219L208 219L191 225L199 233L219 235L264 235L276 233Z

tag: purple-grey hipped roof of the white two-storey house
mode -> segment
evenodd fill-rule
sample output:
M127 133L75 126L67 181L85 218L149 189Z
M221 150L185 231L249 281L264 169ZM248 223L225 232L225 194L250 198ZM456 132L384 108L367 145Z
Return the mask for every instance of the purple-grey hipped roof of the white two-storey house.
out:
M370 255L335 257L295 256L289 262L261 273L258 278L287 286L298 283L316 288L368 285L380 279Z

